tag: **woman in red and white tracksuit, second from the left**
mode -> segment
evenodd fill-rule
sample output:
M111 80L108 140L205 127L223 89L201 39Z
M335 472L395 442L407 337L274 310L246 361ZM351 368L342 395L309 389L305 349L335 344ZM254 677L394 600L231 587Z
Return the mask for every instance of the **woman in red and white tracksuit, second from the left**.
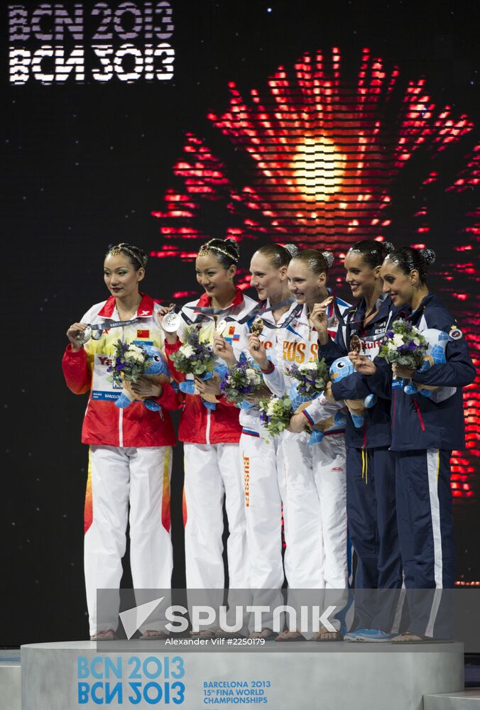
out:
M238 261L238 247L231 239L211 239L202 246L195 268L197 281L205 293L182 307L182 324L178 332L165 334L165 353L169 358L180 349L185 327L195 325L202 341L213 344L217 321L221 320L227 322L223 335L231 343L236 359L242 350L246 350L246 321L256 302L234 285ZM176 371L171 361L170 368L178 381L185 379L185 374ZM249 589L244 487L239 459L239 409L222 398L218 376L207 382L195 378L195 387L199 394L186 395L178 432L185 452L187 588L224 588L225 498L229 523L229 586L231 589ZM217 407L214 410L206 408L200 394L210 400L216 398ZM211 632L214 628L204 628L204 631Z

